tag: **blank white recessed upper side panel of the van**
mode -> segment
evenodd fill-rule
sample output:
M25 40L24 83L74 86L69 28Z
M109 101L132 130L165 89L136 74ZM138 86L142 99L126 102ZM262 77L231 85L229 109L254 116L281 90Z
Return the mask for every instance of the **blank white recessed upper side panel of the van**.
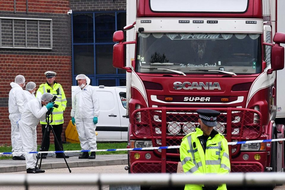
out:
M115 107L114 96L112 92L97 91L99 98L100 111L113 110Z

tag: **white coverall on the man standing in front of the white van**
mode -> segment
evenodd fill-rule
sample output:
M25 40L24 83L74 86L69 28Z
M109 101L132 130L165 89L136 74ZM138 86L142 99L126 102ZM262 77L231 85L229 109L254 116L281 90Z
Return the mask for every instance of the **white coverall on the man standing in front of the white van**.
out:
M96 125L93 123L93 118L99 116L100 107L96 90L87 84L83 89L77 86L74 94L71 117L75 118L81 149L97 150Z

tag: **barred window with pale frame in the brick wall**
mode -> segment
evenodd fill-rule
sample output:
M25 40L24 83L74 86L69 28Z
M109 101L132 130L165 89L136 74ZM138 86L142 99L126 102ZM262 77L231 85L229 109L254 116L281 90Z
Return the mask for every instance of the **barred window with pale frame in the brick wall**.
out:
M52 49L52 19L0 17L0 48Z

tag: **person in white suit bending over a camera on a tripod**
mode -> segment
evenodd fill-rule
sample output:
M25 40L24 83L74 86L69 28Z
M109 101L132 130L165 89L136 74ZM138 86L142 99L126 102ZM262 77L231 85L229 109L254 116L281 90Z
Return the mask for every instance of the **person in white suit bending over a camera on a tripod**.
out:
M53 109L53 95L44 93L41 100L38 98L30 100L19 121L20 134L23 139L23 152L37 151L37 124L44 120L48 110ZM38 169L36 165L36 154L25 153L27 173L43 173L45 170Z

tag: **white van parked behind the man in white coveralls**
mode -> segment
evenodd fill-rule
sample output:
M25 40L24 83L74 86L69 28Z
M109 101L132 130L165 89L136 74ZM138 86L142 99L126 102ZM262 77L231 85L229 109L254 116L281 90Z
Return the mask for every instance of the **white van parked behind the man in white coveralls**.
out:
M72 86L72 99L77 86ZM100 104L96 124L97 141L127 141L129 119L126 118L126 87L94 86Z

